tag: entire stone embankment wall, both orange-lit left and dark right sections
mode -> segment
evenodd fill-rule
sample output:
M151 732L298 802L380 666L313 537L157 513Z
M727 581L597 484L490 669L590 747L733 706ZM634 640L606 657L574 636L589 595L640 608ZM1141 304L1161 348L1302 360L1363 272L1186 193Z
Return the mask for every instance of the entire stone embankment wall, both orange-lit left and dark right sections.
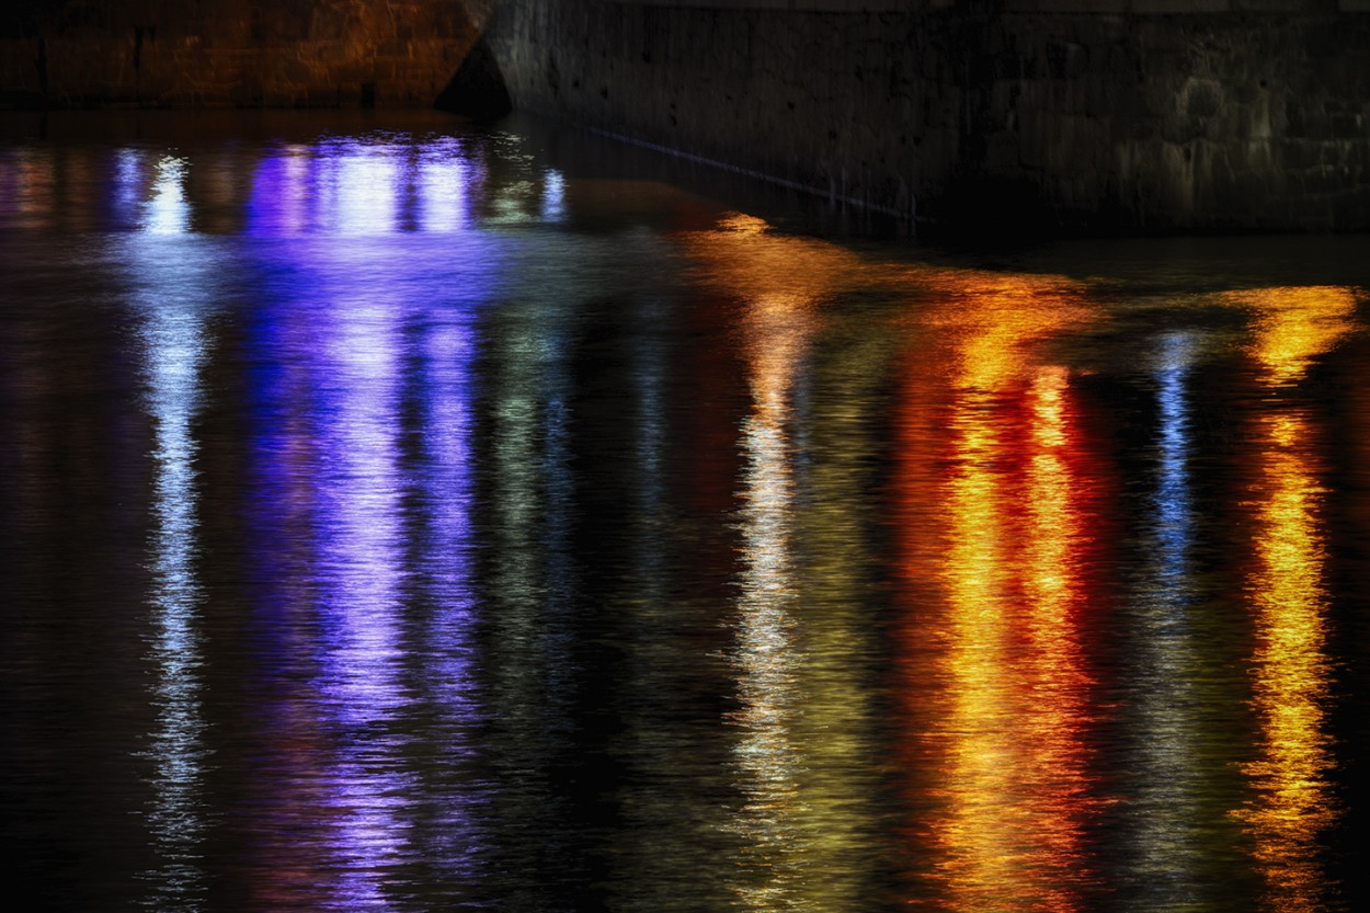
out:
M0 0L0 107L444 99L493 115L503 80L521 108L904 218L1370 230L1367 14L1370 0Z

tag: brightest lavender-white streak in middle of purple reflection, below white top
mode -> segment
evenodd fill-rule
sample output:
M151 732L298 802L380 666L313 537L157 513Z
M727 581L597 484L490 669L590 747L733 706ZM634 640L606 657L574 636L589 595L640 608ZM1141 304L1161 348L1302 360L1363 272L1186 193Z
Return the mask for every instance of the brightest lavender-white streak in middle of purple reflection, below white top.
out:
M358 256L349 256L356 254ZM414 783L401 766L404 577L399 396L404 308L388 271L340 245L325 265L332 307L318 326L318 688L340 740L329 776L338 910L390 909L408 853L403 813Z

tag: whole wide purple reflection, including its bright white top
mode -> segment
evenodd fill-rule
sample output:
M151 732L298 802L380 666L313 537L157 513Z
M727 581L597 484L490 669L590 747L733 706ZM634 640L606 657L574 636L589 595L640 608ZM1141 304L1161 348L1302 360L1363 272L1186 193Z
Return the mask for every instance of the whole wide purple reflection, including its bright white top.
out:
M289 796L266 827L299 836L277 847L288 865L263 854L267 906L403 906L415 866L460 894L484 854L467 764L470 398L474 315L503 243L432 237L466 226L469 180L455 141L323 141L263 162L252 184L248 230L271 239L253 249L277 300L252 341L256 478L284 499L263 504L263 531L290 543L263 557L285 577L262 624L286 694L267 773L271 798Z

